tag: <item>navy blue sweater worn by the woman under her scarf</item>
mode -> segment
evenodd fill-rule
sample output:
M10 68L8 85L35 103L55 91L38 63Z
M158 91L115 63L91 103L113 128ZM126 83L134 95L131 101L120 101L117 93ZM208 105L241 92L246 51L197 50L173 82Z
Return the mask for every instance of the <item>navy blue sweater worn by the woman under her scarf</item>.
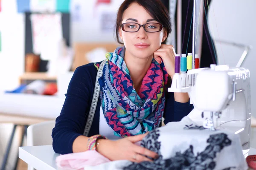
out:
M96 75L97 68L93 63L76 68L70 80L67 94L65 94L66 99L60 116L57 117L55 127L52 129L52 146L56 153L73 153L74 140L84 133L93 99ZM180 121L192 108L193 105L190 105L189 102L175 102L174 94L166 93L164 123ZM98 100L89 136L99 134L99 109L100 99Z

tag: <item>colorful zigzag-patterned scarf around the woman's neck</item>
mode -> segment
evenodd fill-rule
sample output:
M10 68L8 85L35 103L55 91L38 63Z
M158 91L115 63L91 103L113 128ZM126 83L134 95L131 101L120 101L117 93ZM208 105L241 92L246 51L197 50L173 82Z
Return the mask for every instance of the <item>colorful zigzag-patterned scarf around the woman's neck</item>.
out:
M143 134L160 125L165 106L164 87L168 79L163 63L160 65L152 59L137 94L124 54L124 47L107 53L103 75L99 78L105 119L115 135L122 137Z

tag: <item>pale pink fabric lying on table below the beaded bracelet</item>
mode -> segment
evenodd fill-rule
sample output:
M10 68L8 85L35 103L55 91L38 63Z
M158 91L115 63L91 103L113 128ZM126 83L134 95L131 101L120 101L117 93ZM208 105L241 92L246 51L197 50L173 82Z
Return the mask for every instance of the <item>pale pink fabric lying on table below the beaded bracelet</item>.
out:
M95 150L60 155L56 158L57 166L68 170L83 170L85 166L95 166L106 162L110 160Z

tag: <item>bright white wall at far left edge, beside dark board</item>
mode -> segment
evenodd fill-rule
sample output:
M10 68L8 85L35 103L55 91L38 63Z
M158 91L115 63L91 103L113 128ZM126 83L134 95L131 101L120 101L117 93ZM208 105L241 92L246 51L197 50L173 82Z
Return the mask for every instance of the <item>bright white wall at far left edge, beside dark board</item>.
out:
M2 0L0 90L15 88L24 69L24 16L16 13L16 0Z

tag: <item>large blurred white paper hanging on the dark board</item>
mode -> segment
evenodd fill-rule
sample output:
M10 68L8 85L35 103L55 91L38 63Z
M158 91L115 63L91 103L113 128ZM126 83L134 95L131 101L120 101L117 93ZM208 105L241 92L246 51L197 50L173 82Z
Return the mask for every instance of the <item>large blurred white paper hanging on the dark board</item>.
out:
M31 14L31 24L33 52L35 54L41 54L42 48L45 46L55 47L62 40L60 13ZM51 53L54 53L54 51L51 51Z

